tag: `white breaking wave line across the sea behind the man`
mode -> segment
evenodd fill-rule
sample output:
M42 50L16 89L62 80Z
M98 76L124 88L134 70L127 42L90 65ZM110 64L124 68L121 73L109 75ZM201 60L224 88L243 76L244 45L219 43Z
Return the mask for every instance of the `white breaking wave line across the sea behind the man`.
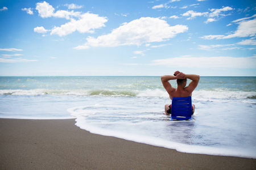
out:
M168 97L166 91L155 90L54 90L54 89L34 89L34 90L0 90L0 95L72 95L72 96L137 96L137 97ZM220 99L255 99L254 91L230 91L230 90L197 90L193 92L193 99L196 100L220 100Z

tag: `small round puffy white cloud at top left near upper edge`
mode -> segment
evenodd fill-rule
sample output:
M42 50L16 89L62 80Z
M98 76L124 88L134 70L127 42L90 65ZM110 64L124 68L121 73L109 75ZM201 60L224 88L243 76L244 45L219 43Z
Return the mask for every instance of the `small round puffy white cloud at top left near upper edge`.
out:
M38 10L39 16L42 18L48 18L53 16L55 8L44 1L36 3L36 10Z

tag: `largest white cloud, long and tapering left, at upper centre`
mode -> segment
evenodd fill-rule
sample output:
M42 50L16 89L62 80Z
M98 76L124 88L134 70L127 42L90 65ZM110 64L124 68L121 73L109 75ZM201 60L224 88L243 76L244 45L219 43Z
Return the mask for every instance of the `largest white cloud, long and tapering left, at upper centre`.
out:
M122 24L120 27L113 29L112 33L108 35L97 38L88 37L84 45L77 46L75 49L86 49L90 46L141 45L150 42L161 42L187 30L187 25L171 27L165 20L142 17Z

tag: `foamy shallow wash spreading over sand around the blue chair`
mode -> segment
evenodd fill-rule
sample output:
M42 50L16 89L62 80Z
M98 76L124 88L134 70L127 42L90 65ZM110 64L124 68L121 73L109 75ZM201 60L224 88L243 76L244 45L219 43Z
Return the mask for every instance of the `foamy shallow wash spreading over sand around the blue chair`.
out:
M105 104L72 108L69 112L77 117L77 126L91 133L180 152L256 158L256 134L249 133L256 128L253 104L195 101L192 121L171 122L160 109L164 101L159 97L112 97ZM246 117L239 119L245 110Z

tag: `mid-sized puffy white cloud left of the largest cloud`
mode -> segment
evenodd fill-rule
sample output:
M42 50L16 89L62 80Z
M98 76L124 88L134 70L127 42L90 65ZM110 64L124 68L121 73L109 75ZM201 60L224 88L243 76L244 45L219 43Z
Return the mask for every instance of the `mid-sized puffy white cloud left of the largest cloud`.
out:
M60 27L54 27L51 35L56 34L59 36L66 36L75 31L79 31L80 33L93 33L93 29L105 27L104 23L107 21L108 19L106 17L85 13L81 15L79 20L71 19L70 22L63 24Z

